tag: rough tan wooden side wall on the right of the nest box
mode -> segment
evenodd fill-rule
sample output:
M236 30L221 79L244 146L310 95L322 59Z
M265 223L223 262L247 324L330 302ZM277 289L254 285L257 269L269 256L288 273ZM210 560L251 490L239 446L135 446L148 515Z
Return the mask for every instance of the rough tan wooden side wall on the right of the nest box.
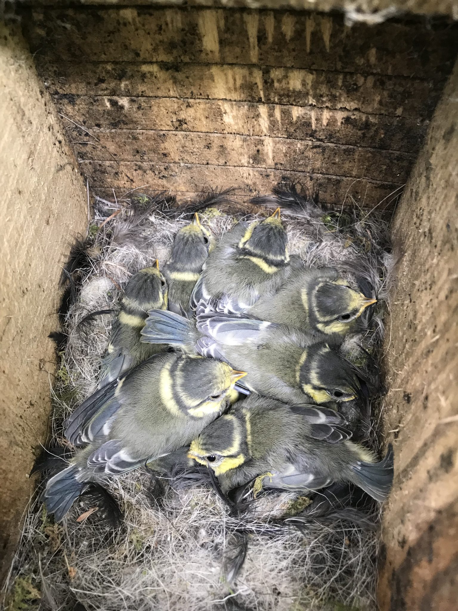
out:
M452 611L458 601L458 65L405 188L404 246L387 326L394 444L383 516L382 611Z

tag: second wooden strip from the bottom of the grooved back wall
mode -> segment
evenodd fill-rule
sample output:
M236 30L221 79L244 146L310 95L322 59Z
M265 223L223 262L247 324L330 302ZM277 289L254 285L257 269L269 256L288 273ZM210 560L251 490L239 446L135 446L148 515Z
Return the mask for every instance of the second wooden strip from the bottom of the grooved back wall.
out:
M173 131L99 131L96 140L75 128L73 142L79 161L150 161L211 166L245 166L293 172L338 173L354 178L397 182L407 180L409 153L350 147L327 142L270 136L196 134Z

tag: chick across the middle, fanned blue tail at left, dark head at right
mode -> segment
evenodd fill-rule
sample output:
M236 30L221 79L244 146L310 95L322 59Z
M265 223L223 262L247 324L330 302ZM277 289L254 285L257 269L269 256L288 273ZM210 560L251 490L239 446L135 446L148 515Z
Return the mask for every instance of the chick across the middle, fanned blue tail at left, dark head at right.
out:
M364 376L338 352L341 340L284 324L210 313L199 314L196 327L183 316L153 310L142 341L224 360L248 372L242 382L248 390L293 405L362 395Z

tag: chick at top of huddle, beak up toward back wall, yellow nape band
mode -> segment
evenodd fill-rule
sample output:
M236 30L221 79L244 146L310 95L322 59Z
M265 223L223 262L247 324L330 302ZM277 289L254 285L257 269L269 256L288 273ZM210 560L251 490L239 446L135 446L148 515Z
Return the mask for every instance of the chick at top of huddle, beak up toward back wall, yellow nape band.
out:
M225 233L203 265L191 307L212 299L219 309L244 312L260 295L277 290L288 273L288 235L278 208L264 221L239 222Z

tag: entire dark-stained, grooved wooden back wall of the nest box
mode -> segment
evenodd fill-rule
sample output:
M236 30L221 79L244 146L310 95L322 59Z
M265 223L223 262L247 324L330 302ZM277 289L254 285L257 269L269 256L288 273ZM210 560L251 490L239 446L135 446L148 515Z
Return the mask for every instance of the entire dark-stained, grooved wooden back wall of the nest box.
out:
M203 8L39 9L24 31L96 194L293 181L388 208L458 43L443 21Z

